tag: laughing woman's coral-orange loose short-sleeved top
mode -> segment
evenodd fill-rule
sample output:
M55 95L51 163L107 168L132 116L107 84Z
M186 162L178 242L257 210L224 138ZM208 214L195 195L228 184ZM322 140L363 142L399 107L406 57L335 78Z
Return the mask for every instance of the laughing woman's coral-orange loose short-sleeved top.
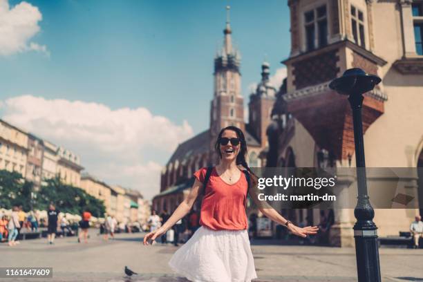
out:
M203 167L194 176L203 183L206 172L207 167ZM214 230L247 229L246 198L247 179L244 173L241 172L238 181L229 185L218 176L214 167L201 203L200 225Z

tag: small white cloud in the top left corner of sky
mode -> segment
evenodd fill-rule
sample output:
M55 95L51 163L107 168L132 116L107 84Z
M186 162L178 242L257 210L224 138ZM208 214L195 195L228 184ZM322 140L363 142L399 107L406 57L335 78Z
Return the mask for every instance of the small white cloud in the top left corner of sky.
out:
M35 50L49 55L47 47L30 41L40 30L42 15L38 8L22 1L10 8L8 0L0 0L0 55Z

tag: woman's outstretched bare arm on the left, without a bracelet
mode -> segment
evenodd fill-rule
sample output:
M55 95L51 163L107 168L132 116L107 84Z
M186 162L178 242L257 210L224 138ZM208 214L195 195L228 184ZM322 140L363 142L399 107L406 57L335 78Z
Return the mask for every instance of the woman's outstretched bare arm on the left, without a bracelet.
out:
M175 212L169 217L169 219L164 223L159 229L156 231L150 232L144 237L144 245L149 245L149 240L154 242L156 238L162 236L167 232L167 230L171 229L171 227L181 218L186 216L189 211L191 210L192 206L196 202L196 198L198 196L198 192L202 189L203 183L200 182L198 179L195 180L194 185L192 185L191 190L185 200L178 205Z

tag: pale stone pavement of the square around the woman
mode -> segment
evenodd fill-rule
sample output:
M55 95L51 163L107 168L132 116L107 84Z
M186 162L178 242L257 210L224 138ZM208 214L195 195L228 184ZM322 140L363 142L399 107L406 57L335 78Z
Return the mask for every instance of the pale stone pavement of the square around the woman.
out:
M118 234L103 241L91 230L88 244L76 238L22 241L16 247L0 244L1 267L53 267L53 279L0 281L181 282L167 262L177 247L143 246L143 234ZM353 248L252 245L259 279L256 281L357 281ZM379 250L382 281L423 281L423 250ZM128 265L138 275L124 275Z

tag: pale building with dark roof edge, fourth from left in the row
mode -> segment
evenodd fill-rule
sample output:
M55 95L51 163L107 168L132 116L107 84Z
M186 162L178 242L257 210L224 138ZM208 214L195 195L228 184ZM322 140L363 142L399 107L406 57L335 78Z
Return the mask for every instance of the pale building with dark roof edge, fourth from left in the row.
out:
M79 156L63 147L59 147L57 155L57 174L60 179L68 185L80 187L81 171L84 167L79 164Z

